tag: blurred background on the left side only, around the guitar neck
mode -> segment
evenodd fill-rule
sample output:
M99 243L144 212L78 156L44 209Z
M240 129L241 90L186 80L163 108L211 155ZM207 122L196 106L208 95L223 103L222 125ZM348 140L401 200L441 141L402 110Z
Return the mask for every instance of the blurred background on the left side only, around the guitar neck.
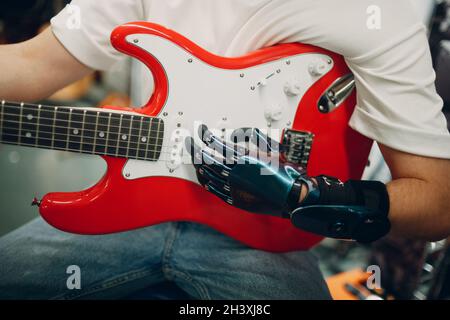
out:
M0 2L0 44L17 43L45 29L67 0ZM97 106L130 105L131 59L113 70L96 73L57 92L42 104ZM101 178L106 166L100 157L0 146L0 235L36 217L34 196L82 190Z

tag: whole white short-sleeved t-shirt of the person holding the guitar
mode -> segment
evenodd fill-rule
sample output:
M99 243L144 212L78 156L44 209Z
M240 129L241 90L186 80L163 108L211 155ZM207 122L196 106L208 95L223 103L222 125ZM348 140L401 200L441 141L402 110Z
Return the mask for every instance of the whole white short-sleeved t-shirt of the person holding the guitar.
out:
M77 9L66 8L52 19L53 32L94 69L108 69L123 57L112 48L110 33L137 20L174 29L223 56L285 42L337 52L356 78L352 128L400 151L450 159L426 28L410 0L73 0L72 5L80 9L81 28L68 28Z

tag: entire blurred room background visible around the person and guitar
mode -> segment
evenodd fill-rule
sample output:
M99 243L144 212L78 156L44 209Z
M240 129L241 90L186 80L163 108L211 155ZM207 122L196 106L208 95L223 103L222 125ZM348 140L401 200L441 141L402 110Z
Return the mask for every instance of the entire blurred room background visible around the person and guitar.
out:
M429 28L436 70L436 87L450 119L450 1L413 1ZM66 0L1 1L0 44L32 38L48 26ZM401 14L401 13L399 13ZM128 59L108 72L96 72L40 101L48 105L128 107L141 105L139 62ZM450 123L450 122L449 122ZM55 190L77 191L103 176L105 162L97 156L0 145L0 236L36 218L32 199ZM364 176L388 182L389 169L375 146ZM372 244L326 239L312 250L333 299L436 300L450 299L450 242L425 242L389 236ZM383 272L381 286L367 279ZM2 261L0 261L0 270ZM1 284L0 284L1 285Z

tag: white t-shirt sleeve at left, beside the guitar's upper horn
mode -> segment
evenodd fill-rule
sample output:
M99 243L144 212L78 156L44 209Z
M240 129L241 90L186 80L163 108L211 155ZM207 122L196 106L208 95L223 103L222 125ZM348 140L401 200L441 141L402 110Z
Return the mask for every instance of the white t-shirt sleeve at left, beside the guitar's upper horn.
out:
M73 0L51 20L51 28L76 59L92 69L107 70L124 57L110 43L112 30L143 19L139 0Z

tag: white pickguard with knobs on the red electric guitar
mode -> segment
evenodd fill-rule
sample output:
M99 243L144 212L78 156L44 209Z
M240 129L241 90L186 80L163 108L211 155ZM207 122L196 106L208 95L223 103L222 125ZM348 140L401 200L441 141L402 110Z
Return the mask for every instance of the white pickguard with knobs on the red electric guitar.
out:
M169 96L158 115L165 122L160 160L128 160L123 170L126 179L170 176L197 182L184 146L184 138L194 129L192 136L197 136L195 123L204 123L219 133L222 129L229 133L243 127L270 128L269 135L279 141L282 129L291 127L305 92L333 68L329 56L301 54L242 70L226 70L197 59L161 37L136 34L128 36L127 41L159 60L167 74ZM320 74L311 72L311 67L317 66ZM293 81L299 85L296 96L284 90Z

